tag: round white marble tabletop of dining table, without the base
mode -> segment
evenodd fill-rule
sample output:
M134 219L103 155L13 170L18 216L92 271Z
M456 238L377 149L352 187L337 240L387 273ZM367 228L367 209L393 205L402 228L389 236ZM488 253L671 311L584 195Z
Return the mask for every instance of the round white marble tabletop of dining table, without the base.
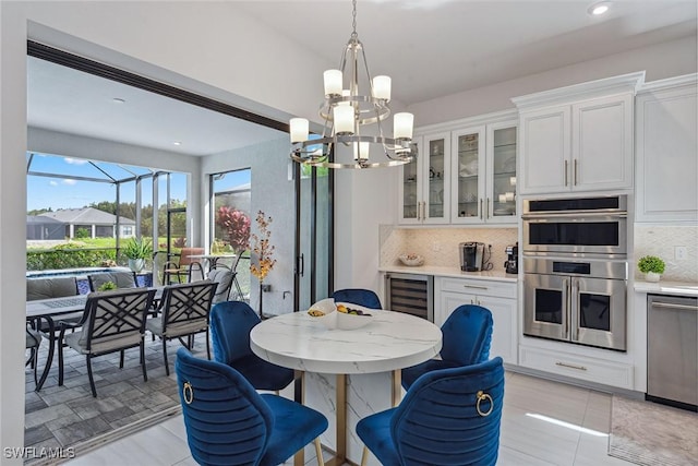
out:
M438 355L441 328L424 319L377 310L350 331L328 330L308 312L268 319L250 333L252 351L278 366L317 373L388 372Z

